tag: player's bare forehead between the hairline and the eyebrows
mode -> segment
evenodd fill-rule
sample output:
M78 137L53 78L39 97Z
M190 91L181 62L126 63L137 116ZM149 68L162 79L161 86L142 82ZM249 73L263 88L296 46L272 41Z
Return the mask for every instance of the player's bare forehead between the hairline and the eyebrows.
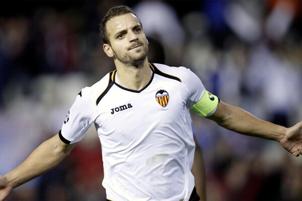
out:
M130 29L140 25L139 20L132 13L127 13L120 16L115 16L107 22L107 33L114 34L123 30Z

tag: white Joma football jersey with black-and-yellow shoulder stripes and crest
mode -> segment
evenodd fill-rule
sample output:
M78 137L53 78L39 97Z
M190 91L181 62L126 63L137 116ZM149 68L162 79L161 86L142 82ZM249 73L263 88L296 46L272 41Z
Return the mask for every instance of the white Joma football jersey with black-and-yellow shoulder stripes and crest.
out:
M116 83L116 70L84 88L59 132L75 143L95 124L110 200L188 200L194 188L189 107L205 88L185 67L150 69L152 79L139 91Z

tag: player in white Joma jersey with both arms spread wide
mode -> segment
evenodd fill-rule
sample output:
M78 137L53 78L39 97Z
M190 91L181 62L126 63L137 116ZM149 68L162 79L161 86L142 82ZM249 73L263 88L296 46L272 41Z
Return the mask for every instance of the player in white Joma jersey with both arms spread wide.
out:
M199 200L189 108L226 129L278 141L302 153L302 122L284 128L230 106L205 90L184 67L150 64L141 23L125 6L101 24L105 53L116 70L76 97L57 135L0 177L0 200L59 164L95 124L102 144L103 186L109 200Z

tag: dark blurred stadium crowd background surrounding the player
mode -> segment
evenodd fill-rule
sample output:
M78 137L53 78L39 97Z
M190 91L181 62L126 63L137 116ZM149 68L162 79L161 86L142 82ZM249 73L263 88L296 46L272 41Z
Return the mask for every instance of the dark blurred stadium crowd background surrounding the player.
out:
M302 120L302 1L1 1L0 174L55 135L79 91L114 69L99 24L116 5L140 18L150 62L190 68L223 102L261 119ZM300 157L192 120L208 200L302 200ZM57 168L7 200L105 200L102 178L91 128Z

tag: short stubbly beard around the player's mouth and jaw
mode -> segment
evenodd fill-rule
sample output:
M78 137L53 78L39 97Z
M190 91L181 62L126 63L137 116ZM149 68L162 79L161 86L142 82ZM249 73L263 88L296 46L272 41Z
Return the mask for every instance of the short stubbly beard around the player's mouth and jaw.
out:
M114 52L114 59L119 60L125 65L141 68L143 66L145 58L147 57L148 46L141 43L139 43L138 45L143 45L143 50L132 54L129 52L132 47L128 48L128 51L123 55L119 51L115 51L112 49Z

